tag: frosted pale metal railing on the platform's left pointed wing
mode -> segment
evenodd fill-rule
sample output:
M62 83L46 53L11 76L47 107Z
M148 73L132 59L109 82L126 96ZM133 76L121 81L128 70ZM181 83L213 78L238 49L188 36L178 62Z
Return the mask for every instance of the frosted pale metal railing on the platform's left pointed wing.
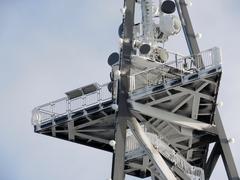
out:
M33 125L42 125L64 115L70 117L74 112L111 99L112 94L109 92L107 84L104 84L92 93L74 99L64 97L34 108L31 121Z

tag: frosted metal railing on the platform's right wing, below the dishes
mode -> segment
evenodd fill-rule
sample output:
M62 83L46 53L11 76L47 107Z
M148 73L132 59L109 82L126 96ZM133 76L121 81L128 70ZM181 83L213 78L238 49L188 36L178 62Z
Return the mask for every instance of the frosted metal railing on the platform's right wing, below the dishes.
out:
M169 80L179 79L187 74L196 73L203 69L221 64L221 51L218 47L202 51L195 56L181 56L168 52L170 61L157 67L132 74L130 76L130 91L148 86L164 84ZM202 68L200 65L204 64Z

